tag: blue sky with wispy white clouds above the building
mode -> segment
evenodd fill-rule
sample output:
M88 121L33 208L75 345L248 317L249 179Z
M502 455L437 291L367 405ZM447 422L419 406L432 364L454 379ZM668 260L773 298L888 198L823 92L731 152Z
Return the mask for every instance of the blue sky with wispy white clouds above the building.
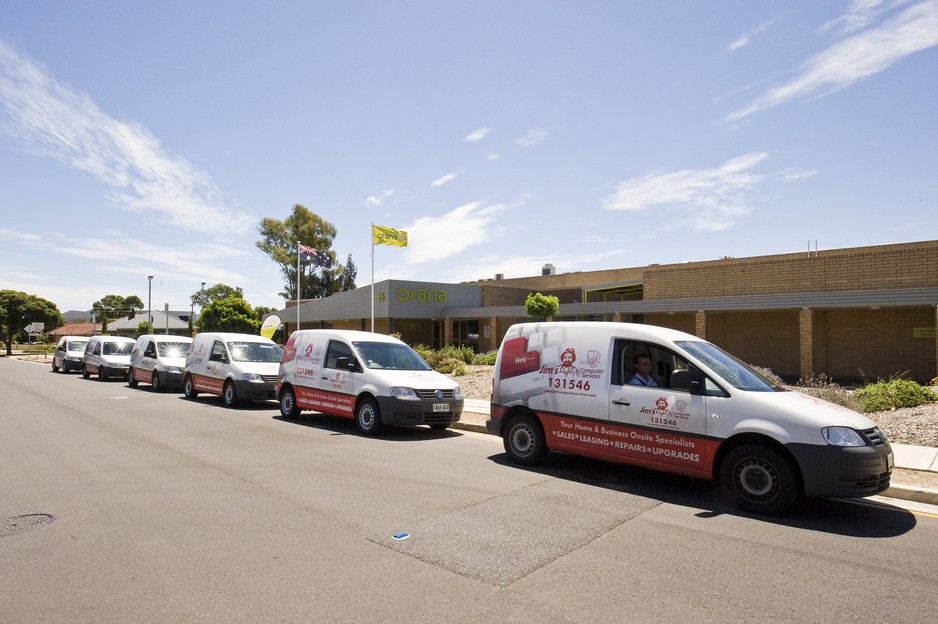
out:
M0 0L0 288L357 284L938 238L938 1Z

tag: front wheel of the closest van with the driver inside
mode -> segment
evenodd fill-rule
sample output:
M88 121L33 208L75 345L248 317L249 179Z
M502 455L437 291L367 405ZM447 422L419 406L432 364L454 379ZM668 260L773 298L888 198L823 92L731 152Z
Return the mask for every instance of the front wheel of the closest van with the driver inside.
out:
M791 461L761 444L730 451L720 465L720 483L737 507L758 514L782 513L801 498L798 473Z

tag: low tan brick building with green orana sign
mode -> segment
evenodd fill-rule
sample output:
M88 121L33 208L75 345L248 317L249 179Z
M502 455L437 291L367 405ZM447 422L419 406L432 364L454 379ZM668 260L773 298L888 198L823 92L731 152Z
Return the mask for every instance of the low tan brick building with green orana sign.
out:
M373 324L410 344L485 352L525 320L532 292L558 297L558 320L680 329L789 380L927 382L938 373L938 241L561 274L545 267L462 284L385 280L279 314L289 329L297 318L302 328Z

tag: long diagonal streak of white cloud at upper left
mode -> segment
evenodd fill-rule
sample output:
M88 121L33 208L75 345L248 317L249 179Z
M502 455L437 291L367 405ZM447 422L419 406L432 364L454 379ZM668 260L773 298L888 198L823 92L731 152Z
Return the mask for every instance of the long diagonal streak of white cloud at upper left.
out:
M0 41L0 132L41 156L94 176L122 209L212 234L247 232L209 177L135 123L118 121ZM218 224L224 223L224 228Z

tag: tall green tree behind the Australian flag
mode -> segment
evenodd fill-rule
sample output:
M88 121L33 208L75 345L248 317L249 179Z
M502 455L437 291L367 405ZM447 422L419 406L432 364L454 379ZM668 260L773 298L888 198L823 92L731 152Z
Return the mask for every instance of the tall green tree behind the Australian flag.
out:
M284 298L317 299L355 288L357 271L352 256L348 256L344 266L335 262L336 253L332 251L335 226L305 206L294 205L293 213L283 221L262 219L258 231L263 239L257 241L257 247L280 266L284 279L280 294ZM330 259L328 267L313 263L300 267L302 293L296 292L297 243L326 252Z

